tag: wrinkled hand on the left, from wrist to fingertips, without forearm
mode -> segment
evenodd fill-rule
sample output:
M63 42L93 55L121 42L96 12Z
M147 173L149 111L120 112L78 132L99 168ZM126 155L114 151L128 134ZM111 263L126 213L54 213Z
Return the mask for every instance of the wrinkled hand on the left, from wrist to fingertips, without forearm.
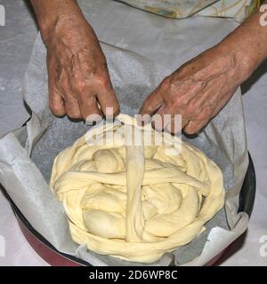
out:
M44 43L53 114L85 120L91 115L89 121L93 121L109 115L106 108L113 107L117 115L119 106L105 56L85 20L61 20Z

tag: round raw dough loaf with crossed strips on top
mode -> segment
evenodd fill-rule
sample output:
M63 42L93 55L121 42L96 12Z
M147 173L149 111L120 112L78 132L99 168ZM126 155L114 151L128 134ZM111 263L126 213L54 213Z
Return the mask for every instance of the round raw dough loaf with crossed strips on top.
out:
M143 135L148 128L120 114L114 124L89 130L56 157L51 188L74 241L101 255L151 263L192 241L223 207L223 175L188 143L177 154L174 142L181 140L172 135L165 134L164 146L143 146L143 138L125 146L129 130ZM115 131L121 135L114 141ZM96 146L96 138L105 143Z

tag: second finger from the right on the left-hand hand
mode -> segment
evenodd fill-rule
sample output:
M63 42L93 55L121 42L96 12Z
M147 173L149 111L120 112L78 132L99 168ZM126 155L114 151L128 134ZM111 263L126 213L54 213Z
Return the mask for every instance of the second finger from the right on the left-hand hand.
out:
M93 125L94 122L101 121L103 114L95 96L82 97L80 107L86 123Z

